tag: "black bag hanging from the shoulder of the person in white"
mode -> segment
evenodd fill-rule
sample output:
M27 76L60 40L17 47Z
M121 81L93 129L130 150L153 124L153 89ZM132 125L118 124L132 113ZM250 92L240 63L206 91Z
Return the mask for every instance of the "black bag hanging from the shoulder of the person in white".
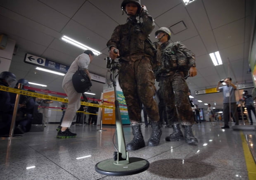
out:
M92 86L89 76L81 69L79 69L72 76L73 86L78 93L86 92Z

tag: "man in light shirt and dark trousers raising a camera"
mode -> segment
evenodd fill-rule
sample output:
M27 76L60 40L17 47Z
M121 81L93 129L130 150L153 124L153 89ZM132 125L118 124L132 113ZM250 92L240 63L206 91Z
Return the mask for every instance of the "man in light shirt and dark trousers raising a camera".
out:
M221 83L226 85L219 87ZM216 87L217 91L223 92L223 118L224 126L223 129L229 128L228 123L230 121L230 113L233 114L233 119L235 119L235 125L239 125L238 114L237 114L237 102L235 97L235 90L237 90L236 85L232 83L232 78L225 78L218 82ZM231 112L229 111L231 110Z

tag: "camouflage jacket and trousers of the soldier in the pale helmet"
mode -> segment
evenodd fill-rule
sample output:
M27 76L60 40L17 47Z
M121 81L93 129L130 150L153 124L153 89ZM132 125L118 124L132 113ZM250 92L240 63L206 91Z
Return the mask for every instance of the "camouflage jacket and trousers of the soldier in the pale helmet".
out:
M168 122L170 125L192 125L194 118L184 77L187 76L189 68L195 66L194 54L182 43L168 41L158 46L159 53L161 65L156 76L166 104Z

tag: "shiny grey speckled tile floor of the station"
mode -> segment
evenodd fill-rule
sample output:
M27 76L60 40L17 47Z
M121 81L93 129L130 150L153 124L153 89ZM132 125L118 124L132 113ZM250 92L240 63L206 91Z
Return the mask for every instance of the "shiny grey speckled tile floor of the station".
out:
M162 128L161 144L129 152L130 157L149 161L147 171L128 176L97 173L95 165L111 159L115 151L115 127L71 126L76 138L57 139L57 124L49 124L43 132L30 132L12 140L0 140L1 180L247 180L248 172L240 131L221 129L222 122L197 124L192 127L198 146L184 141L166 142L172 128ZM132 139L131 127L123 127L126 143ZM151 128L142 126L147 142ZM255 157L256 131L243 131ZM115 137L116 139L116 137ZM115 140L116 146L117 141ZM254 145L251 145L254 144ZM253 147L254 146L254 147ZM89 156L76 159L82 156ZM27 169L27 167L35 166Z

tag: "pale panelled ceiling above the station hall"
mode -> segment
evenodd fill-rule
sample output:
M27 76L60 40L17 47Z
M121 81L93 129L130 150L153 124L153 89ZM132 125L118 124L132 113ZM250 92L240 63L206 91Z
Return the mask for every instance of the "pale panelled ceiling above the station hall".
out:
M106 47L114 28L126 22L121 15L121 0L0 0L0 33L15 40L18 51L9 71L17 78L48 85L52 91L64 92L63 76L35 70L24 63L25 53L70 65L83 52L60 40L62 35L80 41L102 54L95 57L89 71L106 77ZM232 77L233 83L252 82L249 71L249 49L254 0L196 0L186 7L182 0L141 0L155 20L154 32L162 26L183 21L186 29L172 34L172 41L181 41L196 54L198 75L187 83L194 99L216 102L222 107L222 94L194 95L195 90L216 87L218 81ZM220 52L223 65L213 66L209 53ZM108 77L107 77L108 78ZM102 83L92 82L91 92L100 98ZM33 85L31 85L33 86ZM35 87L35 86L34 86ZM37 87L38 88L38 87ZM240 92L241 94L241 92ZM88 95L92 97L92 95ZM238 94L237 94L238 99Z

